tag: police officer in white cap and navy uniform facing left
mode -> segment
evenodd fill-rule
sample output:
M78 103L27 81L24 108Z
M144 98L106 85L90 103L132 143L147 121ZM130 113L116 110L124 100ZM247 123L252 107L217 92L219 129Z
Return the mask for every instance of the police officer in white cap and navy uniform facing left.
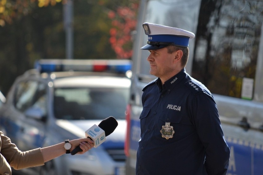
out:
M143 88L137 175L226 174L230 150L212 94L185 71L189 39L182 29L144 23L150 74Z

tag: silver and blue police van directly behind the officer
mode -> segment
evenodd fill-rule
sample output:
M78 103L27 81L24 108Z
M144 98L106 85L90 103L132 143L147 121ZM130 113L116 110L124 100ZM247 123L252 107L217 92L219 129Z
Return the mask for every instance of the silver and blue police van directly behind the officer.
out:
M126 174L135 174L142 89L149 74L142 24L193 32L186 72L213 94L231 150L228 175L263 174L263 1L142 0L133 48L131 99L127 106Z

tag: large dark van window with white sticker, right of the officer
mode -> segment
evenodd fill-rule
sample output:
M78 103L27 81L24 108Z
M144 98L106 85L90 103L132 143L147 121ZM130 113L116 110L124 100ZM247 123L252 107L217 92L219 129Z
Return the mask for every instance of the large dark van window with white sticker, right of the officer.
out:
M212 93L253 99L262 1L223 1L200 10L192 76Z

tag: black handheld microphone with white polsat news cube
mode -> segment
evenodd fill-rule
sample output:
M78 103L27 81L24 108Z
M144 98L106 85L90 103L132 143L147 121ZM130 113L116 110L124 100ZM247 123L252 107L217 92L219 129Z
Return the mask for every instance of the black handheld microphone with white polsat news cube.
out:
M113 116L110 116L102 120L98 126L94 124L85 132L85 135L87 138L94 141L94 148L97 148L106 140L106 136L110 135L117 128L117 126L117 120ZM80 146L77 146L70 154L75 155L80 151L82 151L82 149Z

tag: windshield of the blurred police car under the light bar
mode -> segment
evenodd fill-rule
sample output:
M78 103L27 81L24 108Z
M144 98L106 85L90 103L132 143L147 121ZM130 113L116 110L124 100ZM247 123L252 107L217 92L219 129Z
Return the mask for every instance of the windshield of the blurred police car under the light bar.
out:
M125 119L128 88L56 88L54 115L65 120Z

